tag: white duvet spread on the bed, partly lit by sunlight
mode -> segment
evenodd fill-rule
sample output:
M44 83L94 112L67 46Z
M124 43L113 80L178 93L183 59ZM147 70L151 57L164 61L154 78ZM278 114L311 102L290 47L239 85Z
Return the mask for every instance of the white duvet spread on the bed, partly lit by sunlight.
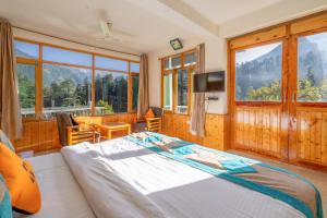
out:
M61 150L98 218L289 218L283 202L162 157L124 138Z

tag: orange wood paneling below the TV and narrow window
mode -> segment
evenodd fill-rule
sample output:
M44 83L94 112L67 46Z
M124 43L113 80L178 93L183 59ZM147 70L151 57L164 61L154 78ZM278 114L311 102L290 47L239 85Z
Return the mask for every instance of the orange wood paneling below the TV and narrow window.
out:
M190 133L190 116L165 113L162 119L162 133L215 149L228 149L227 116L206 114L205 137L194 136Z

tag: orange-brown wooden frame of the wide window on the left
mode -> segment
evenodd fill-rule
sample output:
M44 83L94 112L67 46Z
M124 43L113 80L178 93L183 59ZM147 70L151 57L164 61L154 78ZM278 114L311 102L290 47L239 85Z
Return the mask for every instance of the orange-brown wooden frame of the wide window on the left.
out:
M96 114L95 111L95 71L96 70L101 70L101 71L110 71L110 73L124 73L128 75L128 111L126 112L119 112L119 113L132 113L135 112L135 110L132 110L132 75L134 76L135 72L130 72L131 70L131 62L134 63L140 63L140 61L131 60L131 59L124 59L124 58L119 58L119 57L113 57L109 55L102 55L102 53L97 53L97 52L90 52L90 51L85 51L81 49L75 49L75 48L68 48L68 47L62 47L58 45L52 45L52 44L47 44L47 43L40 43L40 41L35 41L35 40L29 40L21 37L14 37L15 41L23 41L23 43L28 43L28 44L34 44L38 45L39 48L39 53L38 53L38 59L28 59L28 58L22 58L17 57L16 62L22 63L22 64L35 64L35 117L34 118L24 118L26 120L44 120L45 114L44 114L44 106L43 106L43 65L44 63L46 64L52 64L52 65L61 65L61 66L71 66L71 68L78 68L78 69L87 69L92 71L92 113L89 116L99 116ZM70 63L62 63L62 62L55 62L55 61L46 61L43 60L43 49L44 47L52 47L52 48L58 48L58 49L63 49L68 51L74 51L74 52L81 52L81 53L86 53L92 56L92 66L87 65L81 65L81 64L70 64ZM95 66L95 57L104 57L104 58L110 58L110 59L116 59L116 60L121 60L121 61L126 61L128 62L128 70L126 71L118 71L118 70L110 70L110 69L100 69ZM117 113L114 113L117 114ZM101 116L112 116L112 114L101 114Z

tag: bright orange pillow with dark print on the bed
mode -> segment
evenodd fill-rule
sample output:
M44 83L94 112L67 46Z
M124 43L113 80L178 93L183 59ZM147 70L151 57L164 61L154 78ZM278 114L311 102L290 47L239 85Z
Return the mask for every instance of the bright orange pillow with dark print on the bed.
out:
M15 211L35 214L40 209L40 192L29 162L0 143L0 173L3 175Z

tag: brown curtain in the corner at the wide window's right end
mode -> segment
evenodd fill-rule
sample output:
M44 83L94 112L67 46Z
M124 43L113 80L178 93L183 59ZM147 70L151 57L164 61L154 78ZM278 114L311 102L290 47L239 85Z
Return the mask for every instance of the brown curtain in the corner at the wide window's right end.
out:
M142 119L148 110L148 60L147 55L141 56L140 84L137 100L137 120Z

